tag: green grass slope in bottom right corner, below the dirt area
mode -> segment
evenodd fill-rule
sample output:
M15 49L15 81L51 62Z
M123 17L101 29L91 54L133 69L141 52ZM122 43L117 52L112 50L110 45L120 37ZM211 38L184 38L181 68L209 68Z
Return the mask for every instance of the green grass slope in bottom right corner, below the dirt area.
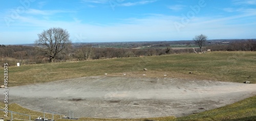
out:
M179 120L256 120L256 96L225 107L178 117L176 121Z

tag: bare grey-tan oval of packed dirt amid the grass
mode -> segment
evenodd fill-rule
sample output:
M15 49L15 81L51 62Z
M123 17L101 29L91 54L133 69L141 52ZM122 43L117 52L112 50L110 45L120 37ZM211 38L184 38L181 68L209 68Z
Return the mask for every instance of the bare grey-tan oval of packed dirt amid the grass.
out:
M170 78L83 77L10 87L9 101L37 111L72 110L75 117L183 116L256 95L255 87Z

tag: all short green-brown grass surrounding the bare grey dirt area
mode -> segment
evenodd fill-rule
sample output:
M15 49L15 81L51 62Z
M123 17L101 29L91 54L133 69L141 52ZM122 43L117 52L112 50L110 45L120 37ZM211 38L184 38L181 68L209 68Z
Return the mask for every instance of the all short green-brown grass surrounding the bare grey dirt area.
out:
M148 70L144 71L144 68L147 68ZM189 72L192 72L192 74L189 74ZM142 75L145 74L145 77L149 78L167 77L238 83L250 81L251 83L256 83L255 72L256 52L211 52L205 54L179 54L59 62L24 65L19 67L11 66L8 70L8 86L44 83L77 77L104 76L105 73L108 74L107 76L123 76L123 74L126 74L126 76L131 77L142 77ZM4 80L2 76L1 80ZM16 112L23 112L23 110L25 110L16 109L14 107L15 106L13 106L13 111ZM31 115L40 114L32 113ZM250 120L256 118L256 96L223 108L186 117L174 118L171 116L154 118L153 120L248 120L246 119L247 117ZM91 118L81 119L105 120Z

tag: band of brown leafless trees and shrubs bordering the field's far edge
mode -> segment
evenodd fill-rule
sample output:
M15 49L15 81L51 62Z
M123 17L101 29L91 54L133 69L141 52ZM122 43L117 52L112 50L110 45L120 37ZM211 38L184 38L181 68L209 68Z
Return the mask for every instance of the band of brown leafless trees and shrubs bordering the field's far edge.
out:
M255 40L235 41L229 44L210 44L205 45L202 49L206 51L256 51ZM195 49L199 52L199 49ZM74 47L69 46L55 57L55 62L61 60L92 60L92 59L108 59L108 58L127 58L138 56L158 56L165 54L175 53L194 53L193 49L180 49L174 50L169 46L166 47L145 47L141 49L129 48L103 48L93 47L90 44ZM15 65L17 62L28 64L29 62L35 63L48 63L49 57L46 53L38 51L37 46L24 46L24 45L1 45L0 46L0 64L9 62Z

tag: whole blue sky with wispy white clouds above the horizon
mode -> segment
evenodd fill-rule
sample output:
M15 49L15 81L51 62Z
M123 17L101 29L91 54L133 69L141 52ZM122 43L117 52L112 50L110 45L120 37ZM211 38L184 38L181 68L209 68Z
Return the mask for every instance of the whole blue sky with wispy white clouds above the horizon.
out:
M13 0L0 8L0 44L34 43L52 27L72 42L256 38L256 0Z

